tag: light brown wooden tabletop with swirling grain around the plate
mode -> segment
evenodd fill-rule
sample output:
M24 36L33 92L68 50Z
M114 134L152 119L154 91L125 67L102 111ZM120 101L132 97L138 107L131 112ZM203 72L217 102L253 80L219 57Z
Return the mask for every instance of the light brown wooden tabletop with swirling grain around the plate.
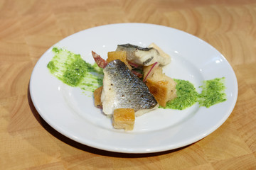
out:
M184 30L219 50L238 78L233 113L188 147L119 154L81 145L38 115L28 83L43 52L109 23ZM0 169L256 169L256 1L0 0Z

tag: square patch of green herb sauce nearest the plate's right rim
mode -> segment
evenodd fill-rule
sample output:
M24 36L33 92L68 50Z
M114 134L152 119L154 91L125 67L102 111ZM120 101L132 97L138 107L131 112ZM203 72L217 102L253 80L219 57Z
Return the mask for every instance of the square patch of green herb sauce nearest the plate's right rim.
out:
M198 102L200 106L209 108L217 103L226 101L224 77L203 81L203 90L199 95Z

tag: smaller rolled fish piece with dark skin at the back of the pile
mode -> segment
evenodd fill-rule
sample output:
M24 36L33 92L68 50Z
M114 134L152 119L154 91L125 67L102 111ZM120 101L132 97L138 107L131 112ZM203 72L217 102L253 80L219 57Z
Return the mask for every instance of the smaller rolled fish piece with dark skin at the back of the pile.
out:
M126 51L127 60L135 64L149 66L155 62L166 65L171 62L171 57L163 57L154 47L139 47L137 45L117 45L116 51Z

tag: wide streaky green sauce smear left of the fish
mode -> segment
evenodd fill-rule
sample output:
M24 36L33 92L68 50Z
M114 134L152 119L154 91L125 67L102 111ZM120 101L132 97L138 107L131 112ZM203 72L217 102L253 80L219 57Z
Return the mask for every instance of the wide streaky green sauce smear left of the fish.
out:
M52 51L55 55L47 67L63 83L92 92L102 86L103 70L97 64L87 63L68 50L53 47Z

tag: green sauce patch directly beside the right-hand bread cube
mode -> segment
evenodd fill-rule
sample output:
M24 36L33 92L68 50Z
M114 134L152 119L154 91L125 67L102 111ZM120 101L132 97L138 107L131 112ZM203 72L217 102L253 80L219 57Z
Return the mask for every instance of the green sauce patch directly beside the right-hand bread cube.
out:
M191 82L174 79L176 81L177 98L166 103L165 108L183 110L197 102L198 92Z

